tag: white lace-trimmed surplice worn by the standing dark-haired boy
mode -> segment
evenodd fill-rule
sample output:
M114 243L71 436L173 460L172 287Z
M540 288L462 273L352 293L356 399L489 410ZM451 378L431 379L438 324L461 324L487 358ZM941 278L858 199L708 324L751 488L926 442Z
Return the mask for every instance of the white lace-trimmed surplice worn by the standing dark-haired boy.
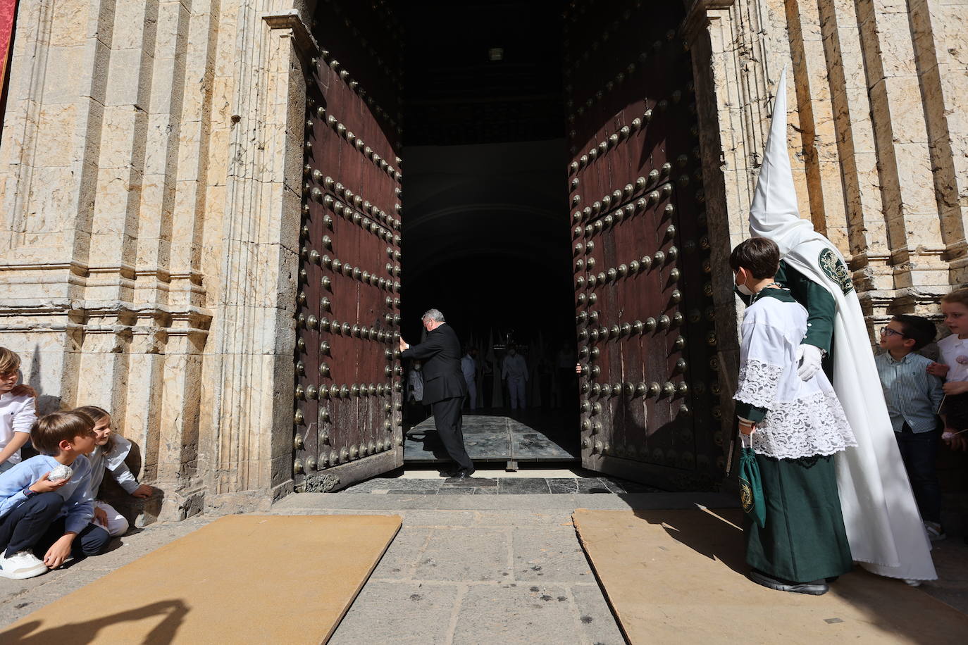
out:
M855 446L831 382L823 371L797 374L797 348L806 335L806 309L765 296L742 319L739 388L734 398L767 408L753 449L777 459L839 453Z

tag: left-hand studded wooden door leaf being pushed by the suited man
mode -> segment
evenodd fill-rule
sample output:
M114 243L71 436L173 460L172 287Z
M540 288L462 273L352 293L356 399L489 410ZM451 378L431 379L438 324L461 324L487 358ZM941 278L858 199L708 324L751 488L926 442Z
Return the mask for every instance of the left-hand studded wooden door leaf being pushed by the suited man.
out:
M294 357L305 491L403 465L400 33L383 3L320 3L315 24Z

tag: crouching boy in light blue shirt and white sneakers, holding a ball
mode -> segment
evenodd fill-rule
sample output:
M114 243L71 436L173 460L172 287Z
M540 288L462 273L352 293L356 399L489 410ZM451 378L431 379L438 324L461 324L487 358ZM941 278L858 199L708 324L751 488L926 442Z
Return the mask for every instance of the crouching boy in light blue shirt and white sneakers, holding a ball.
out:
M48 414L30 438L42 454L0 474L0 575L14 579L57 569L72 555L98 555L110 542L105 529L90 523L91 464L84 454L94 450L91 420L74 412ZM50 481L61 466L70 476Z

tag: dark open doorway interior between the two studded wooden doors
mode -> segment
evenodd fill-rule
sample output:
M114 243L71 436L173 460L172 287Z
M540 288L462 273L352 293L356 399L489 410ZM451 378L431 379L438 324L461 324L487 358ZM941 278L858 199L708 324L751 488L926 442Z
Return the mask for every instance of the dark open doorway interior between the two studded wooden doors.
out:
M575 354L561 9L434 0L396 9L406 52L402 334L419 340L421 313L439 308L477 350L478 409L466 410L465 431L476 427L478 454L494 460L579 455L575 379L560 369ZM526 410L514 414L500 378L510 344L529 368ZM417 426L408 461L442 456L420 431L432 427L419 423L427 411L406 412L405 430ZM425 437L417 455L412 440Z

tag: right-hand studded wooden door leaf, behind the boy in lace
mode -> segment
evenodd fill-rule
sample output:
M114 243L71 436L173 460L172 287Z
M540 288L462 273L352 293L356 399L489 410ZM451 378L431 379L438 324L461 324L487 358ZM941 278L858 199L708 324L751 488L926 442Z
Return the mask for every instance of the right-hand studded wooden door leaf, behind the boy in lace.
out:
M664 487L721 478L692 64L682 3L572 3L565 90L582 463Z

